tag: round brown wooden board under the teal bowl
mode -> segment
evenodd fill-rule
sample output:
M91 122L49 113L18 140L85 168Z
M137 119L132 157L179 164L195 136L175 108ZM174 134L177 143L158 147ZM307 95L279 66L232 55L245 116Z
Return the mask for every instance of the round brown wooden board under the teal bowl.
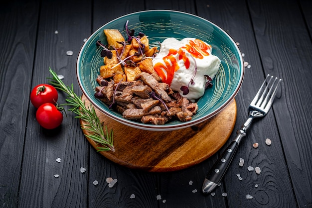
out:
M89 101L82 96L86 105ZM109 160L149 172L169 172L188 168L217 152L231 135L236 121L236 101L217 115L192 127L174 131L146 131L106 116L96 109L108 130L114 131L115 152L99 152ZM83 126L85 121L80 120ZM89 132L82 129L85 135ZM87 138L96 149L97 143Z

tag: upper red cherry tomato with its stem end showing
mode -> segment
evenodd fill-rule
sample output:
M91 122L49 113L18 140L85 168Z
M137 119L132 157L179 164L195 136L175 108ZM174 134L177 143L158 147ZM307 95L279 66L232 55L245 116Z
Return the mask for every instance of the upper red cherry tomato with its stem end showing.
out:
M45 103L56 104L57 99L56 89L48 84L37 85L30 93L30 101L36 108Z

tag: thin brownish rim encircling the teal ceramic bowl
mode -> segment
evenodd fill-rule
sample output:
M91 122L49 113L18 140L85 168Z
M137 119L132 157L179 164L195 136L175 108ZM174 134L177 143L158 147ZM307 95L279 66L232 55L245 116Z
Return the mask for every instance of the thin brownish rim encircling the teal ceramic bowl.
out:
M101 31L102 28L105 27L107 24L110 24L111 22L116 21L118 19L125 18L127 16L131 16L131 15L135 15L135 14L139 14L139 13L161 12L161 11L172 12L172 13L181 13L181 14L184 14L184 15L185 14L186 15L190 15L190 16L193 16L195 18L198 18L198 19L201 19L203 21L206 21L206 22L212 24L214 27L216 27L220 31L222 31L224 33L224 35L226 35L229 38L229 40L233 43L233 46L235 47L235 49L238 51L239 62L240 62L240 65L241 65L241 70L240 70L240 75L239 75L240 79L238 81L238 85L236 86L233 94L223 104L221 104L218 108L216 108L209 115L204 115L204 116L199 117L197 119L192 119L192 120L187 121L187 122L181 122L179 124L171 124L171 125L168 124L168 123L166 125L145 124L145 123L140 123L140 122L137 122L137 121L123 119L123 118L120 118L118 116L115 116L114 114L108 113L107 111L103 110L101 106L99 106L98 104L93 102L91 97L87 94L87 92L82 87L80 75L78 73L79 66L80 66L79 60L81 60L82 51L84 51L84 49L85 49L85 47L86 47L86 45L88 43L88 40L91 39L93 36L97 35L99 33L99 31ZM222 29L220 26L216 25L212 21L207 20L207 19L205 19L203 17L197 16L195 14L187 13L187 12L184 12L184 11L168 10L168 9L152 9L152 10L136 11L136 12L132 12L132 13L129 13L129 14L125 14L125 15L119 16L119 17L117 17L117 18L115 18L115 19L105 23L104 25L99 27L97 30L95 30L87 38L87 40L84 42L84 44L82 45L82 47L81 47L81 49L79 51L79 54L78 54L78 57L77 57L77 61L76 61L76 77L77 77L77 80L78 80L79 87L80 87L81 91L83 92L83 95L90 101L91 104L93 104L98 110L103 112L105 115L107 115L108 117L110 117L110 118L112 118L112 119L114 119L114 120L116 120L118 122L121 122L121 123L123 123L123 124L125 124L127 126L130 126L130 127L139 128L139 129L142 129L142 130L150 130L150 131L172 131L172 130L178 130L178 129L182 129L182 128L186 128L186 127L190 127L190 126L199 124L199 123L207 120L208 118L213 117L214 115L219 113L222 109L224 109L236 97L236 95L239 92L239 89L242 86L244 76L245 76L245 68L244 68L244 59L243 59L242 53L241 53L239 47L237 46L236 42L234 41L234 39L224 29Z

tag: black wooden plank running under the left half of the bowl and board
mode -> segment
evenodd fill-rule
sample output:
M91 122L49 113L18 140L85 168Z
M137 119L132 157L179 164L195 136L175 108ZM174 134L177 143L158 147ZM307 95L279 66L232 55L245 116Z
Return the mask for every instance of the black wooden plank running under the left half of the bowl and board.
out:
M93 31L119 16L144 10L144 2L131 0L105 2L94 1ZM116 131L116 129L113 129ZM91 146L91 145L90 145ZM89 207L157 207L158 176L153 173L132 170L116 165L96 152L90 151L90 184L97 180L97 186L89 187ZM108 187L107 178L117 179L114 187ZM130 198L133 194L134 198Z

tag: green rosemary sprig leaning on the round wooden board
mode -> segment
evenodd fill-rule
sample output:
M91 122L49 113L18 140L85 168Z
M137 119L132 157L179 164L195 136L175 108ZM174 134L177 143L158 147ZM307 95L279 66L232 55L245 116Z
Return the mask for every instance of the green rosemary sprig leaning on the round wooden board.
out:
M80 118L86 121L88 124L82 129L90 132L90 135L86 135L86 137L92 139L93 141L101 144L103 147L97 147L97 151L113 151L115 152L114 143L113 143L113 130L110 132L105 126L104 132L104 124L101 123L100 119L95 113L94 107L90 104L88 107L85 106L84 102L82 102L81 97L78 97L74 93L73 84L71 87L66 86L57 76L57 74L49 68L49 72L52 74L52 78L48 78L50 83L58 90L65 92L68 96L66 99L66 104L61 105L69 105L71 106L70 111L77 114L76 118Z

